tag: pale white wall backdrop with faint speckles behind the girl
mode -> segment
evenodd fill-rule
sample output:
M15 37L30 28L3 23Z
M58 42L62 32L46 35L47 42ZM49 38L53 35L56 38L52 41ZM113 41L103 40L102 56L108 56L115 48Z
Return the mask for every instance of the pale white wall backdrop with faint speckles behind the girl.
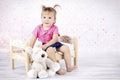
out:
M41 23L41 5L57 8L61 35L77 36L79 51L119 51L119 0L0 0L0 48L9 49L9 39L29 40Z

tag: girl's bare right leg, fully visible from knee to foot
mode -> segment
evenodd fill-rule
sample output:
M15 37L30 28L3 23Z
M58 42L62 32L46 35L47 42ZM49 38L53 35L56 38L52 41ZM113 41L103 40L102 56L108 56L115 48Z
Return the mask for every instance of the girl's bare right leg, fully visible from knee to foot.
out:
M72 65L71 65L71 54L70 54L69 47L66 45L63 45L59 48L59 51L63 53L67 71L70 72L73 69L75 69L75 67L72 67Z

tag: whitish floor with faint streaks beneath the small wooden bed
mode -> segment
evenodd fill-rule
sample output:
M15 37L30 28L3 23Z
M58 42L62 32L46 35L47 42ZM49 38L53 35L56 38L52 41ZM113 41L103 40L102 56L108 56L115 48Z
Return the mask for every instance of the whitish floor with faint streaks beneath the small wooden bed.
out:
M66 75L55 75L44 80L120 80L119 52L80 55L78 69ZM25 66L20 62L16 61L15 69L11 70L9 57L9 53L0 52L0 80L32 80L27 78Z

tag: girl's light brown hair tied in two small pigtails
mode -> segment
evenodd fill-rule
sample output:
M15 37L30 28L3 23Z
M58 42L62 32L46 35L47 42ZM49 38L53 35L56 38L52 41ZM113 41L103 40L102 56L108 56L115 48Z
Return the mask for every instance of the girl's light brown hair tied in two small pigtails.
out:
M41 15L43 14L43 12L53 12L54 13L54 17L56 18L56 14L57 14L57 12L56 12L56 10L55 10L55 8L56 7L60 7L59 5L54 5L53 7L46 7L46 6L42 6L42 13L41 13Z

